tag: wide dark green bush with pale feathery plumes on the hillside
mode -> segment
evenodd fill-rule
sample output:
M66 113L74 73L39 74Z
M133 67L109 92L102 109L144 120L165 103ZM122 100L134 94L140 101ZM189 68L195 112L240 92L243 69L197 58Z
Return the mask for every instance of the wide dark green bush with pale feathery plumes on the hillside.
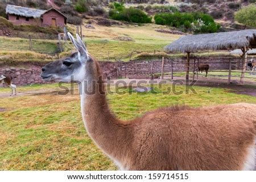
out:
M220 28L214 22L212 16L202 12L175 12L161 13L155 15L155 23L173 26L176 28L192 29L194 33L212 33L217 32Z

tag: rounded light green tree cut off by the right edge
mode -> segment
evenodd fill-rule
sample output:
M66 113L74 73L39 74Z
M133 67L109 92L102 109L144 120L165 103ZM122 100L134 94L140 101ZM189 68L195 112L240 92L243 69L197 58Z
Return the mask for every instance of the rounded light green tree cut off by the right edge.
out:
M239 23L245 24L246 26L256 27L256 6L249 5L239 10L235 14L235 19Z

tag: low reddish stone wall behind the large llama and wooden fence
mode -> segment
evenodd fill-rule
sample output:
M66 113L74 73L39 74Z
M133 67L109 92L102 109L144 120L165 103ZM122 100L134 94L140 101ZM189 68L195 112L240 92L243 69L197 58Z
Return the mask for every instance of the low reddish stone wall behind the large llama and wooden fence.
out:
M210 70L222 69L228 70L229 58L200 58L200 60L195 60L199 63L208 63L210 65ZM153 61L153 66L152 66ZM164 73L171 72L171 62L174 72L185 71L184 58L177 60L164 60ZM236 69L237 62L239 59L232 58L232 69ZM10 67L5 65L0 68L0 75L7 74L13 77L13 83L20 86L26 84L34 83L46 83L41 77L41 68L45 63L41 64L27 64L27 65L16 65L15 67ZM129 61L129 62L100 62L103 77L106 78L138 78L144 77L148 78L151 74L151 67L153 73L161 73L162 71L162 60L147 60L147 61ZM191 59L191 71L193 70L194 59Z

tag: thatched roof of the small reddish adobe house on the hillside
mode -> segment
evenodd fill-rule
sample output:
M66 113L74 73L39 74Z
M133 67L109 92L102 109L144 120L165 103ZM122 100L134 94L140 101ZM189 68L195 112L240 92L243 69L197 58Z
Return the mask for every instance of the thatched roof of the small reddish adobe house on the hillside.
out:
M29 8L29 7L22 7L22 6L15 6L15 5L6 6L7 14L14 14L14 15L25 16L25 17L40 18L40 16L44 14L44 12L46 12L46 10L38 10L38 9Z

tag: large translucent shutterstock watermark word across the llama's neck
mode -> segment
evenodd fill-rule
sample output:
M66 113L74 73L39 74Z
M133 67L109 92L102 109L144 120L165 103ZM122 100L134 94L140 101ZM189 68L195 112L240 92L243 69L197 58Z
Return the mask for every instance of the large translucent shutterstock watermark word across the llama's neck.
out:
M184 81L167 81L167 80L148 80L148 79L128 79L128 80L90 80L77 82L71 78L71 82L59 82L59 95L75 95L76 84L79 86L79 94L94 95L125 95L125 94L163 94L163 95L181 95L197 94L195 88L196 82L185 83Z

